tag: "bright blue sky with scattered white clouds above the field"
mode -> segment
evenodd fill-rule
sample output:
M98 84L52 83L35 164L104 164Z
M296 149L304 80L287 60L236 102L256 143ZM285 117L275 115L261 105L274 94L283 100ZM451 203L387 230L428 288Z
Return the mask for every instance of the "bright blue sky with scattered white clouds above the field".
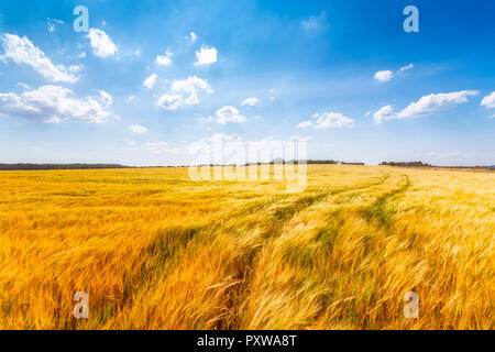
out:
M0 163L186 165L209 141L298 140L311 160L493 165L494 13L482 0L2 0Z

